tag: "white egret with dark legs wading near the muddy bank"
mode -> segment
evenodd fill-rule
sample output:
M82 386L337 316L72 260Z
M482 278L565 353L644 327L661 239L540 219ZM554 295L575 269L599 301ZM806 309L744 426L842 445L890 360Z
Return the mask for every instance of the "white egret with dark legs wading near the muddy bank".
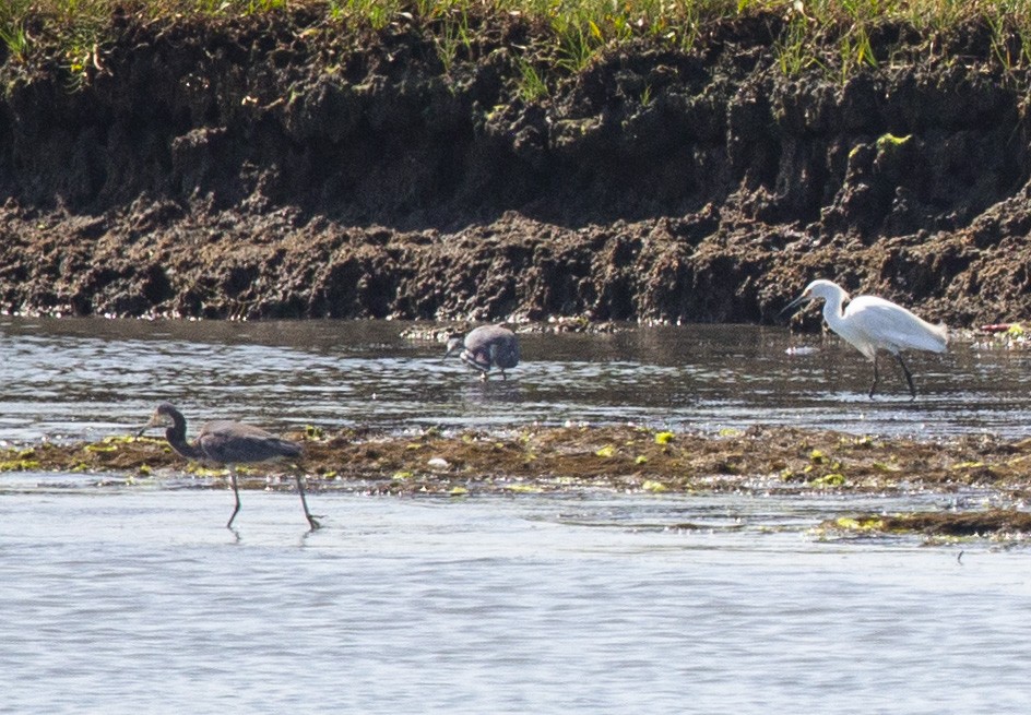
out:
M915 397L913 377L902 361L902 350L945 351L948 344L948 329L945 325L932 325L912 312L884 298L860 296L849 301L849 294L836 283L814 281L787 308L802 302L823 299L823 320L830 329L850 343L855 349L874 364L874 383L869 396L877 390L877 350L891 353L902 367L910 394ZM785 308L785 310L787 309Z

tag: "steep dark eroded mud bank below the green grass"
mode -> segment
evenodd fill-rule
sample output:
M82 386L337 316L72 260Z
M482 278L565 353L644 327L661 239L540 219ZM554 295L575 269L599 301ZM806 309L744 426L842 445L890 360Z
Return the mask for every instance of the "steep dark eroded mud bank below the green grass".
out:
M879 28L842 82L728 21L530 100L511 17L449 62L417 22L111 22L75 74L0 50L0 310L754 322L822 276L1031 314L1031 83L984 27Z

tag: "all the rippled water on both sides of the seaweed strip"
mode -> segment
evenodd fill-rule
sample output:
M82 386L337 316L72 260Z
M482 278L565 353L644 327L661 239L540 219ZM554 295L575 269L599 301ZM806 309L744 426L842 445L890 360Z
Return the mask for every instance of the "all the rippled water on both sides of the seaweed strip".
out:
M0 319L0 441L125 433L170 400L273 429L633 420L1028 433L1022 353L755 327L526 335L481 384L396 323ZM789 347L815 347L789 356ZM823 540L982 494L377 498L0 475L0 712L1022 713L1026 547Z

